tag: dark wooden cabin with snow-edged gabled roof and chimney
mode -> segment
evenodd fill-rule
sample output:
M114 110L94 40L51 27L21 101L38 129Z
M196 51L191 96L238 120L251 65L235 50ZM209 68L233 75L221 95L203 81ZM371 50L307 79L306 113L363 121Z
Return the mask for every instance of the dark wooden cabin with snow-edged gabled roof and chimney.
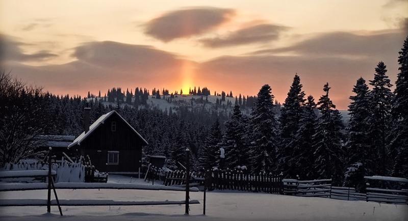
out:
M137 174L146 140L115 110L100 116L90 126L89 112L90 108L85 107L85 131L68 146L69 149L78 155L88 155L100 172Z

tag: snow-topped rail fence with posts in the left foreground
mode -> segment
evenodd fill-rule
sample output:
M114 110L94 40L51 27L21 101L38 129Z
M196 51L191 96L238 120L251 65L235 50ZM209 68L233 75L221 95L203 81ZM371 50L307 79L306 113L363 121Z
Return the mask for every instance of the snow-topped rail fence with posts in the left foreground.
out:
M52 156L52 149L49 148L48 155ZM189 151L186 151L189 154ZM48 157L48 164L51 165L52 157ZM187 164L187 169L189 165ZM48 183L24 183L24 184L0 184L0 191L22 191L22 190L41 190L47 189L47 200L43 199L2 199L0 207L3 206L47 206L47 212L50 213L51 206L58 205L60 215L62 216L61 206L138 206L138 205L186 205L186 214L189 214L190 204L199 204L198 200L190 200L189 192L198 191L198 188L189 188L189 177L186 177L186 187L171 187L171 186L150 186L137 185L127 183L54 183L53 175L56 171L52 171L48 167L48 172L45 170L38 171L8 171L0 172L0 178L21 178L21 177L48 177ZM90 176L90 175L89 175ZM56 188L57 187L57 188ZM113 200L59 200L56 189L144 189L144 190L179 190L186 192L184 201L113 201ZM56 200L51 200L51 190L54 190Z

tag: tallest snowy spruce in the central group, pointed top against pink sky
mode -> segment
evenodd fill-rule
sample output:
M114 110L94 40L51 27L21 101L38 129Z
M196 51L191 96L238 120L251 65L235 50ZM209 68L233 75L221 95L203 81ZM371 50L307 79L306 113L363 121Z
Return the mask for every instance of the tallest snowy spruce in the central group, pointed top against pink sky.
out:
M293 146L289 145L293 141L294 134L299 129L299 120L304 104L304 92L300 84L300 77L295 74L292 86L281 108L279 117L280 138L278 159L278 170L284 173L285 177L292 177L294 168L289 160L293 155ZM275 104L276 105L276 104Z

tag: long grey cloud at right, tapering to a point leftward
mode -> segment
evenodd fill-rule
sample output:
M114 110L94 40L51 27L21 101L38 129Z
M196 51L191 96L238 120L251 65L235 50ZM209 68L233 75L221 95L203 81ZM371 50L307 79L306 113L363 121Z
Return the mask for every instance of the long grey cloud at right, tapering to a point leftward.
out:
M315 35L289 47L264 49L251 54L295 52L315 57L392 57L405 37L406 34L400 30L366 35L331 32Z

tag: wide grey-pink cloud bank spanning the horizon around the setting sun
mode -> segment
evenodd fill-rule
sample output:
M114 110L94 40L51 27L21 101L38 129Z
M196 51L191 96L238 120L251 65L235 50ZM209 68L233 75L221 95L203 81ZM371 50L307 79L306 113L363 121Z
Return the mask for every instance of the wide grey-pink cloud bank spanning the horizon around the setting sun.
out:
M110 87L136 86L174 90L184 86L187 75L192 86L207 86L217 92L256 95L262 85L270 84L281 102L297 72L307 94L318 99L328 81L330 98L340 109L346 109L355 80L360 76L372 79L379 61L388 66L391 80L396 79L398 51L404 38L400 30L365 35L324 33L286 48L202 63L148 45L88 42L73 48L72 57L77 61L71 63L35 67L8 62L3 68L53 93L85 95L88 90L97 93ZM276 51L296 55L283 56Z

